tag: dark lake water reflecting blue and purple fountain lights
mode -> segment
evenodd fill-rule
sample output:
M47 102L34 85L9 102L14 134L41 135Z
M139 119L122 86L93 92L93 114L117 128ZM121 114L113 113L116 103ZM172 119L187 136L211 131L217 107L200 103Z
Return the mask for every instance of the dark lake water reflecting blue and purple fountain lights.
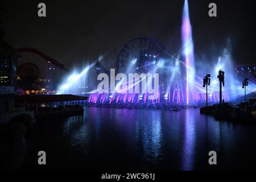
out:
M255 126L219 122L199 109L126 110L90 107L84 115L36 123L24 168L256 168ZM46 151L47 165L37 164ZM217 165L208 152L217 152Z

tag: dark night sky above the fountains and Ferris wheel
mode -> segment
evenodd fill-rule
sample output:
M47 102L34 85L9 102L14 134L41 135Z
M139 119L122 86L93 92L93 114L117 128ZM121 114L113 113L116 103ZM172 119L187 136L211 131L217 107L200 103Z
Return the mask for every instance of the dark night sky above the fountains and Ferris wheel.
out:
M38 17L38 3L47 17ZM256 64L256 3L251 1L188 1L195 55L221 53L232 43L236 64ZM217 17L208 16L210 2ZM119 49L140 36L156 39L170 53L181 48L184 1L1 1L5 41L14 48L32 47L71 68L105 55L113 63Z

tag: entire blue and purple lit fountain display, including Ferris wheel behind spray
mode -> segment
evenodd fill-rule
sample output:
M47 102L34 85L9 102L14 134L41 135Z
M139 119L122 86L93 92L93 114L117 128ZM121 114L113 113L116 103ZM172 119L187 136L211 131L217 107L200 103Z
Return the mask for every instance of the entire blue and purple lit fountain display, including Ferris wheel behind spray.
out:
M98 65L99 61L94 61L86 65L81 72L73 72L66 78L60 86L59 93L85 94L89 97L88 101L92 106L174 110L185 105L205 104L206 94L209 104L217 103L219 100L217 75L221 69L225 71L226 76L222 99L233 101L243 96L241 80L236 77L236 69L233 65L230 41L227 41L227 46L222 48L221 55L212 52L211 60L195 59L187 0L183 9L181 40L180 51L171 55L154 39L143 37L133 39L121 48L116 68L113 68L114 75L110 75L110 70L104 69L103 65ZM109 88L104 87L104 93L98 93L97 89L101 82L97 80L100 73L107 73L109 80L115 77L114 85L109 81ZM129 73L138 74L139 78L123 81L118 73L126 75L127 78ZM156 88L154 78L147 77L148 73L159 74L159 88L154 90L154 93L148 92L147 89L150 84ZM212 76L208 93L205 93L202 82L205 74ZM253 79L249 80L247 93L256 90L255 82ZM139 88L140 93L134 92L136 87Z

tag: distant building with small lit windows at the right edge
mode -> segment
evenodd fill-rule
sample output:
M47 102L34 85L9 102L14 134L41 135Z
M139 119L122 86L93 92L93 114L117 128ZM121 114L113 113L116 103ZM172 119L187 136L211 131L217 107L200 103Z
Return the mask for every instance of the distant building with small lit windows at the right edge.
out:
M237 76L240 78L256 78L256 65L238 65Z

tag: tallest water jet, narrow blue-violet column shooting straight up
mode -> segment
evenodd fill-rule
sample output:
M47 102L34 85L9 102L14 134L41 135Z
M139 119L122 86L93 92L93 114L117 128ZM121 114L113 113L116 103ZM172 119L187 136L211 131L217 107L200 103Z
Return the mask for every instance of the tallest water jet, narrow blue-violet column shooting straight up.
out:
M183 9L183 20L182 20L182 44L183 44L183 55L185 57L186 64L186 98L187 105L189 104L190 96L189 93L195 92L193 84L195 81L195 63L194 63L194 47L192 40L191 24L189 20L188 1L185 0Z

